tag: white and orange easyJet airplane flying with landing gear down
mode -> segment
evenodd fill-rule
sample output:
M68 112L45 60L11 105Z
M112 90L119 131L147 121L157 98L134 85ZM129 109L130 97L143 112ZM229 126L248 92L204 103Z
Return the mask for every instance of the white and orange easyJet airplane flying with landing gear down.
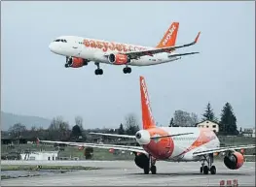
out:
M195 41L190 44L175 46L178 28L179 22L173 22L157 47L142 47L77 36L60 36L50 44L49 48L55 54L66 57L66 68L81 68L92 61L97 66L95 75L103 75L100 63L125 65L124 74L130 74L129 66L158 65L178 60L184 55L199 53L174 53L176 48L195 45L201 34L199 32Z

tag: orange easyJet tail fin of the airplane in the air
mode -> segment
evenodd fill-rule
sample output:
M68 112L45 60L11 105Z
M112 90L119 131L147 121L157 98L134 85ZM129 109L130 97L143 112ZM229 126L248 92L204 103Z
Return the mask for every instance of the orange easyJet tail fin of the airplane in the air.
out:
M159 43L157 48L175 46L178 29L179 29L179 22L173 22L168 28L168 30L165 32L165 36L162 39L162 41Z

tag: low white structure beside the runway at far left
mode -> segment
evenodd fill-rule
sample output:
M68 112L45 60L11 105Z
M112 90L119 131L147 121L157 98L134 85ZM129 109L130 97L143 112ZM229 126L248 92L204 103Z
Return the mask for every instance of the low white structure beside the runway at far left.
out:
M38 151L21 153L21 160L55 161L58 158L58 151Z

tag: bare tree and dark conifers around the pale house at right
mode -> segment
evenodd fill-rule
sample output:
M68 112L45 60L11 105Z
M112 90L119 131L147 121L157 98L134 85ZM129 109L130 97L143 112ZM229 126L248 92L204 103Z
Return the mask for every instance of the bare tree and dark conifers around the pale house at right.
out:
M173 116L169 122L170 127L194 127L200 122L198 115L193 112L175 110ZM218 123L221 135L238 135L237 117L230 103L226 103L221 110L220 120L216 117L210 103L207 103L201 117L201 121L204 120Z

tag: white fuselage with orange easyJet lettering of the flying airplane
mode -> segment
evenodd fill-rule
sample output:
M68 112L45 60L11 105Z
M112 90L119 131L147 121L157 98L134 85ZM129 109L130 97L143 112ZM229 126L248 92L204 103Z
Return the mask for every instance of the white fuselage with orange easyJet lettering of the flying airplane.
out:
M59 40L59 41L58 41ZM62 41L61 41L62 40ZM87 59L98 63L111 64L106 57L110 53L140 51L143 49L152 49L154 47L141 47L135 45L112 43L103 40L62 36L58 37L50 44L51 51L63 56L72 56ZM162 52L153 56L146 55L138 59L131 59L131 66L150 66L162 64L180 59L180 57L169 57L170 53Z

